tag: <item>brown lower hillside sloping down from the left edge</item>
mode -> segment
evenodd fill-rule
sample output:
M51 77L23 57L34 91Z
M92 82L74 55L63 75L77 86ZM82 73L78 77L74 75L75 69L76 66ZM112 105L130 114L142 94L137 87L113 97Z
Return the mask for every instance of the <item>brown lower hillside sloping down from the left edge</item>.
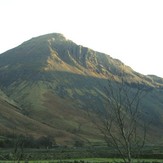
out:
M35 138L48 135L55 137L60 143L63 143L63 139L73 139L72 134L27 117L2 99L0 99L0 131L1 135L24 134Z

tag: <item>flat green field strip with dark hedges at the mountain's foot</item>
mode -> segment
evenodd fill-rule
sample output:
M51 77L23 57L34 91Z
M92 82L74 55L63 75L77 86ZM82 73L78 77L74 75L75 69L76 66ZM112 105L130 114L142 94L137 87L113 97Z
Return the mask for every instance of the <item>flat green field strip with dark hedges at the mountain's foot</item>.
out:
M114 150L108 147L55 147L52 149L31 149L23 151L14 148L0 149L0 163L25 162L53 163L53 162L122 162ZM15 153L14 153L15 152ZM116 159L115 159L116 158ZM8 161L10 160L10 161ZM35 161L34 161L35 160ZM44 160L44 161L38 161ZM23 162L24 162L23 161ZM141 155L140 162L163 162L162 147L146 147ZM138 162L134 159L134 162Z

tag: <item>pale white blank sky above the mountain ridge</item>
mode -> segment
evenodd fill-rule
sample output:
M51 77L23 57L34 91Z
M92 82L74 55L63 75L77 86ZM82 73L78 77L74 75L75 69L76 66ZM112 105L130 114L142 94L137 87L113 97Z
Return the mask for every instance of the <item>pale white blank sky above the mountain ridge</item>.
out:
M163 0L0 0L0 53L55 32L163 77Z

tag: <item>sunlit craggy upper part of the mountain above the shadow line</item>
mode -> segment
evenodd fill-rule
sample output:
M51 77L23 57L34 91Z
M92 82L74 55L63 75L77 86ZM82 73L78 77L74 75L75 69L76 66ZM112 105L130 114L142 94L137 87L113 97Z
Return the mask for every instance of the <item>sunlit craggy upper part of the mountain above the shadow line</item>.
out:
M151 77L142 76L121 61L77 45L58 33L32 38L5 52L0 56L0 70L4 76L18 71L21 78L31 70L30 75L34 73L34 76L40 72L61 71L105 79L112 75L117 78L123 71L128 81L151 84Z

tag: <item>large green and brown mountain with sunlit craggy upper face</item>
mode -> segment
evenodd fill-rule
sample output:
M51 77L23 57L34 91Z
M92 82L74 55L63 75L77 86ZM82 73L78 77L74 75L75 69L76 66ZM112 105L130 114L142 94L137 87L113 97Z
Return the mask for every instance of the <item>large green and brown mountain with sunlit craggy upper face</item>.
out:
M160 136L163 79L135 72L58 33L32 38L0 55L2 128L12 132L16 126L20 133L25 128L36 137L52 134L63 144L79 138L97 141L101 136L88 110L105 107L108 80L119 82L122 74L133 89L139 83L152 90L143 99L144 114L152 120L153 137Z

